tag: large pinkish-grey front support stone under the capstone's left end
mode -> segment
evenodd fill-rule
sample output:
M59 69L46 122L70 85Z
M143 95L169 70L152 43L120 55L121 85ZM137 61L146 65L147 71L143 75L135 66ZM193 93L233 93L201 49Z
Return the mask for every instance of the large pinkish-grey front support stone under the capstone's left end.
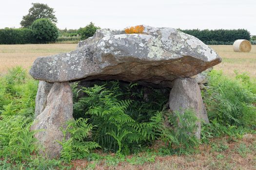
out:
M48 96L47 105L35 119L31 130L41 130L35 134L47 157L58 157L62 149L57 140L62 141L61 126L73 119L73 95L68 82L54 83Z

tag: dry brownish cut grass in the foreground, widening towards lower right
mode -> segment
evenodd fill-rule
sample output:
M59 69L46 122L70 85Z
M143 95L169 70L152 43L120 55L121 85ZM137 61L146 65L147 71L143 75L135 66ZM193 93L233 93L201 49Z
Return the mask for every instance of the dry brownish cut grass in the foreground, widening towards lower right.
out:
M217 138L211 144L202 144L199 150L198 154L157 156L155 162L142 165L128 162L108 165L105 160L81 159L72 165L73 170L83 170L92 164L95 170L256 170L256 135L247 134L238 141Z

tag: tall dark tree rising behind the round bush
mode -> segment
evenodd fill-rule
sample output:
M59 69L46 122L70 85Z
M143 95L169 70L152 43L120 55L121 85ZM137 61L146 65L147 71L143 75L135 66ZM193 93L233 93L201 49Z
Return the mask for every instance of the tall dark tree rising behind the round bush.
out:
M32 3L32 7L28 10L28 15L23 16L20 22L22 27L29 27L32 23L39 18L48 18L52 22L57 22L54 9L50 8L47 4Z

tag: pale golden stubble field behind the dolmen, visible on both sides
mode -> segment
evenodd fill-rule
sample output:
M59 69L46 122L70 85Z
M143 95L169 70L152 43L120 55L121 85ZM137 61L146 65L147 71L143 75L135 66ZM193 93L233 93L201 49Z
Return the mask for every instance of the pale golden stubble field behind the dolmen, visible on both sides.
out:
M0 45L0 73L8 68L21 66L30 68L33 61L39 56L58 54L76 49L77 44L27 44L27 45ZM233 46L211 46L222 57L223 62L216 69L222 69L227 75L234 76L234 70L248 72L256 78L256 46L251 52L234 52Z

